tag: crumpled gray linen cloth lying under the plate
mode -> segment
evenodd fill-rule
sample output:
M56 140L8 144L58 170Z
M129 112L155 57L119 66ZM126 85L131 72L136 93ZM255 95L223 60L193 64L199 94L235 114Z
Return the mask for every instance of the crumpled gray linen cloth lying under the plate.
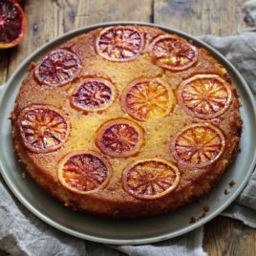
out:
M245 3L250 30L240 27L241 34L219 38L201 36L208 44L223 53L244 75L254 95L256 94L256 2ZM249 31L249 32L248 32ZM243 32L243 33L242 33ZM44 224L32 215L0 179L0 249L11 255L149 255L204 256L203 227L181 237L153 245L101 245L66 235ZM254 171L239 198L223 213L256 227L256 171ZM1 250L0 250L1 254Z

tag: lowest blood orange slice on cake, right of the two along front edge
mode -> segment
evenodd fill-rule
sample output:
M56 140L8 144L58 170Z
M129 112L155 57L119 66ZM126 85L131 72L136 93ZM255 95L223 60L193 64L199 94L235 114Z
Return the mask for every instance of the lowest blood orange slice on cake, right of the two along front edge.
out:
M180 171L172 162L145 159L135 161L124 169L122 187L137 199L154 200L174 191L180 179Z

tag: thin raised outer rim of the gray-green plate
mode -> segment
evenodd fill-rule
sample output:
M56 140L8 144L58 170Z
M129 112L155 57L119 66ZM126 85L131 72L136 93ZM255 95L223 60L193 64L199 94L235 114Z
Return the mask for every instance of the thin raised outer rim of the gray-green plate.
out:
M227 65L228 68L235 75L238 76L238 78L240 80L240 83L243 84L243 86L244 86L243 89L245 90L246 96L248 96L248 100L250 101L250 104L253 106L252 113L253 113L254 119L256 119L256 104L255 104L254 96L253 96L252 92L250 91L249 87L247 86L244 77L233 66L233 64L231 64L224 57L224 55L222 53L218 52L216 49L214 49L213 47L211 47L207 43L203 42L201 39L198 39L195 36L190 35L190 34L188 34L186 32L181 32L179 30L176 30L176 29L173 29L173 28L170 28L170 27L167 27L167 26L155 24L155 23L153 24L153 23L149 23L149 22L137 22L137 21L113 21L113 22L96 23L96 24L93 24L93 25L90 25L90 26L85 26L85 27L76 29L76 30L71 31L71 32L64 33L64 34L56 37L52 41L42 45L37 50L32 52L25 60L22 61L22 63L15 69L14 73L8 79L8 81L6 82L5 86L0 89L0 102L2 102L4 96L5 96L8 88L11 86L11 83L14 80L15 76L18 75L18 73L24 68L24 66L27 66L31 62L31 59L36 54L42 52L43 50L47 50L53 44L58 43L58 41L61 42L61 41L65 40L65 39L69 38L72 35L75 36L75 35L78 35L80 33L89 32L89 31L92 31L92 30L95 30L95 29L98 29L98 28L101 28L101 27L118 26L118 25L119 26L122 26L122 25L150 26L150 27L159 28L159 29L161 29L163 31L166 31L166 32L177 33L177 34L181 35L184 38L192 39L193 42L199 43L200 45L203 46L203 48L208 50L214 56L217 55L218 58L220 58L222 60L222 62L225 65ZM75 231L75 230L73 230L73 229L71 229L69 227L63 226L62 224L58 224L58 223L54 222L51 218L46 217L44 214L42 214L31 203L26 201L26 198L24 198L19 193L18 189L15 188L15 186L11 183L11 180L9 179L9 177L5 173L6 171L5 171L5 168L4 168L3 163L2 163L2 155L0 155L0 173L1 173L4 181L7 183L8 187L11 189L11 192L19 200L19 202L22 203L37 218L39 218L40 220L42 220L46 224L50 224L54 228L57 228L58 230L61 230L61 231L65 232L65 233L73 235L75 237L82 238L82 239L89 240L89 241L93 241L93 242L97 242L97 243L112 244L112 245L142 245L142 244L156 243L156 242L160 242L160 241L167 240L167 239L170 239L170 238L178 237L178 236L180 236L182 234L185 234L185 233L187 233L189 231L192 231L192 230L202 226L203 224L208 223L212 219L214 219L230 203L232 203L239 196L239 194L241 193L241 191L245 187L246 182L248 181L249 177L251 176L251 174L252 174L252 172L254 170L255 163L256 163L256 151L254 152L253 158L252 158L251 163L249 165L248 171L247 171L247 173L245 175L244 181L241 182L239 184L239 186L236 187L236 191L232 194L232 196L229 199L227 199L227 201L225 203L223 203L222 206L217 208L215 211L211 212L205 218L199 220L195 224L188 224L186 227L183 227L183 228L181 228L181 229L179 229L177 231L174 231L174 232L170 232L168 234L158 235L158 236L154 236L154 237L150 237L150 238L141 238L141 239L108 239L108 238L102 238L102 237L97 237L97 236L92 236L92 235L84 234L84 233L81 233L79 231Z

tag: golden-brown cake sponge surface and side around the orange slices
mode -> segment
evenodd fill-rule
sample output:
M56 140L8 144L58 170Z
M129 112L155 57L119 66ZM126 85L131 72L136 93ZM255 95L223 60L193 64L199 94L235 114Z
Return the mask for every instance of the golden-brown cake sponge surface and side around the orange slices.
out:
M198 49L198 60L183 71L171 71L156 65L148 53L152 41L165 32L157 28L129 26L136 28L144 36L144 47L139 55L130 61L111 61L96 53L96 39L103 29L81 34L61 45L75 53L81 65L79 75L67 84L49 86L40 84L34 77L36 65L32 64L16 98L11 114L12 137L15 152L25 165L32 179L48 191L54 198L74 209L112 218L140 218L158 215L174 210L206 193L222 176L228 164L237 153L242 131L240 102L236 89L230 83L224 68L204 49ZM177 35L173 35L179 38ZM38 65L38 64L37 64ZM219 117L203 119L189 115L176 100L167 116L139 121L123 111L120 96L124 88L136 79L160 78L167 83L176 99L179 86L193 75L219 75L230 89L232 99L228 108ZM79 111L70 101L75 88L88 78L106 79L116 88L115 100L111 107L99 112ZM22 111L35 104L52 106L64 113L70 123L70 134L66 142L53 152L34 153L28 150L21 138L18 117ZM66 116L67 115L67 116ZM137 122L144 130L144 143L139 154L115 158L108 156L96 145L96 131L115 118L126 118ZM212 164L206 166L189 165L177 160L172 145L178 132L193 123L214 125L224 135L224 151ZM59 162L67 154L76 151L93 151L109 161L111 177L106 186L94 193L78 194L67 189L58 179ZM176 164L181 172L177 188L170 194L154 200L143 200L131 196L121 184L122 172L127 165L142 159L160 158Z

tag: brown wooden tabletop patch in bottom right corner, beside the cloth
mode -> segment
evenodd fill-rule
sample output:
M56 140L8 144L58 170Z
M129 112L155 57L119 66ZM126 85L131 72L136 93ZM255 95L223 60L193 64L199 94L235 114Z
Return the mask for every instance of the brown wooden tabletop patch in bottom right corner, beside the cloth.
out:
M203 246L209 256L256 255L255 229L224 217L205 224L204 229Z

